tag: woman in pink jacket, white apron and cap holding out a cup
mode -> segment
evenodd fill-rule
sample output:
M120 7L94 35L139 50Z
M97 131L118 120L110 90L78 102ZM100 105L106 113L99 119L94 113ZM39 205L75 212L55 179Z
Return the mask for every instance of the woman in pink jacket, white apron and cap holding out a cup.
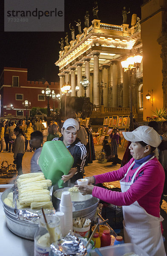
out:
M161 233L159 202L164 187L164 169L153 151L161 143L149 126L123 132L132 159L117 171L87 177L89 184L78 186L83 194L92 194L110 204L122 205L124 240L141 247L149 256L166 256ZM121 192L91 184L120 180Z

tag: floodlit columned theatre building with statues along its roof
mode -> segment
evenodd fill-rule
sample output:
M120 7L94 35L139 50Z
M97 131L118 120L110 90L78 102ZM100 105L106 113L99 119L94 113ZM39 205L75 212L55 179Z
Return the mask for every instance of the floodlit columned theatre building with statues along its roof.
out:
M138 26L137 26L138 25ZM60 87L69 82L72 96L83 96L80 81L86 76L89 86L86 96L94 104L91 117L130 113L130 74L124 73L121 61L139 49L142 54L140 24L132 15L132 26L101 23L93 20L75 41L59 52ZM143 119L143 68L132 76L133 113ZM78 92L75 87L79 86Z

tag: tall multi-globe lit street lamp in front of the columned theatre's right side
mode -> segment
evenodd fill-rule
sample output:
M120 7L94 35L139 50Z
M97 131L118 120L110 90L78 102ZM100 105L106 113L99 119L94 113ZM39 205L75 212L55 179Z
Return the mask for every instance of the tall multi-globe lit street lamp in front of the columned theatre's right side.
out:
M134 130L133 126L133 113L132 113L132 73L135 68L139 68L143 56L141 56L139 49L136 54L132 54L130 51L129 57L126 61L121 61L121 65L124 68L124 72L130 72L130 128L129 131Z

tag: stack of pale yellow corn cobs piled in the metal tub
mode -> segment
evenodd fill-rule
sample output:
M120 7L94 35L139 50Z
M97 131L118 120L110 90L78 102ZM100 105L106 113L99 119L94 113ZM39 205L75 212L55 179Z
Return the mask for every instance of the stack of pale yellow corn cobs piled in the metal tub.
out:
M46 180L42 172L20 175L17 179L18 205L17 208L53 207L48 187L52 186L51 180Z

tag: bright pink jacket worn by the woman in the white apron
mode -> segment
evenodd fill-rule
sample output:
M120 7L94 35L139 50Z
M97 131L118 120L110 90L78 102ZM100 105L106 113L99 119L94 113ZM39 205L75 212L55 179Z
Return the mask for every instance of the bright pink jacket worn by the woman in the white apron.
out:
M124 175L127 173L127 170L133 161L134 158L117 171L95 175L95 184L121 180L123 178L122 181L128 182L132 179L136 169L131 169L126 177L124 177ZM126 192L116 192L94 186L92 195L107 203L119 206L130 205L135 201L138 201L138 204L143 207L147 213L159 217L159 202L164 188L164 179L164 169L157 158L154 157L141 167L133 184Z

